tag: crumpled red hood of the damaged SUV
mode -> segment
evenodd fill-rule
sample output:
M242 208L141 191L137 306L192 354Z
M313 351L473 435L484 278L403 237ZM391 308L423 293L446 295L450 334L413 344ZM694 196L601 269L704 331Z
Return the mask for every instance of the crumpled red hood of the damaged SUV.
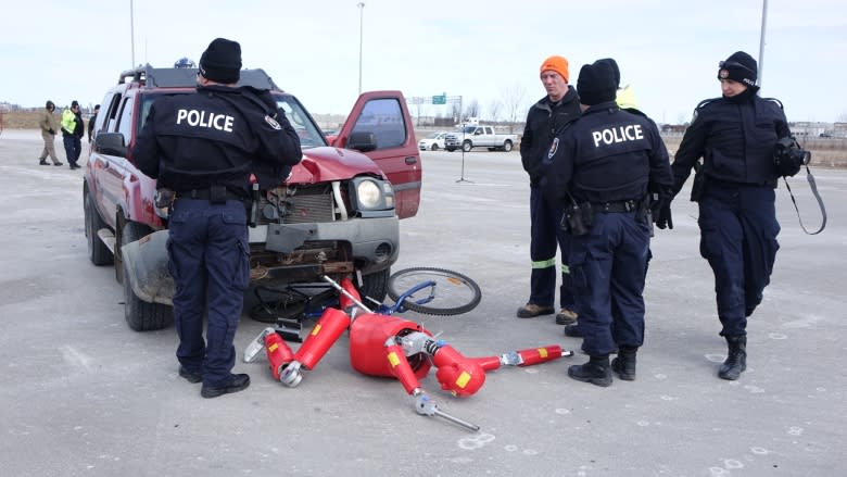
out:
M303 161L291 170L291 177L287 183L313 184L344 180L363 173L372 173L385 178L382 170L361 152L332 147L312 148L303 151Z

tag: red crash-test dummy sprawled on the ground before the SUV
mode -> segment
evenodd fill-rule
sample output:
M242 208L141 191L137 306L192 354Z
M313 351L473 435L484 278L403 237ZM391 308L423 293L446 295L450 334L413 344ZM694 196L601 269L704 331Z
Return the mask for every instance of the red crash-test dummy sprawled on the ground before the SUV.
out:
M371 312L365 306L350 278L341 285L324 279L340 292L341 310L327 307L296 352L292 352L278 332L265 328L244 350L252 362L264 349L270 373L288 387L296 387L303 369L314 369L345 329L350 329L350 363L367 376L394 377L406 393L415 398L418 414L443 417L470 430L479 426L439 410L427 396L419 379L432 366L441 389L457 397L475 394L485 382L485 372L501 366L531 366L573 355L559 346L511 351L500 356L467 357L444 340L435 339L417 323ZM344 310L344 311L342 311Z

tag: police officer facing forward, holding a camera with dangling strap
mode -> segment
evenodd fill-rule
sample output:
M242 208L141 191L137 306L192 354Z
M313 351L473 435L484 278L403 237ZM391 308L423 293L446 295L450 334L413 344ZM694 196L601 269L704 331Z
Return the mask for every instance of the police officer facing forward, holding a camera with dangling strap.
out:
M723 379L737 379L747 367L747 317L761 302L780 248L773 153L791 131L782 104L757 96L756 77L756 60L744 51L720 62L723 96L697 105L672 164L675 194L703 158L692 200L699 203L700 254L715 274L729 348L718 372ZM669 218L670 205L657 225Z

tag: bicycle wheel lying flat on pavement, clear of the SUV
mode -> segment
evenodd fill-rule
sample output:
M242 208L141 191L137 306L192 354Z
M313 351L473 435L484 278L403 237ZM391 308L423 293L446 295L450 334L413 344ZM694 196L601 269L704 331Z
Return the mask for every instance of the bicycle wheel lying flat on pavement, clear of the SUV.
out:
M431 286L408 293L426 283ZM473 310L482 300L482 290L469 277L430 266L405 268L394 273L389 277L388 288L392 300L403 300L401 306L427 315L459 315Z

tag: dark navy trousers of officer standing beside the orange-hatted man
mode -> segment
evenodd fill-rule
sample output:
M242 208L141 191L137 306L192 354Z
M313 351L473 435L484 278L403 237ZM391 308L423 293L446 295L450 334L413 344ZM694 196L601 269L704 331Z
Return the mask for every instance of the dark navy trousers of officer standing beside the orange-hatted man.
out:
M587 235L571 237L570 277L586 354L643 344L649 240L649 226L635 212L597 213Z

